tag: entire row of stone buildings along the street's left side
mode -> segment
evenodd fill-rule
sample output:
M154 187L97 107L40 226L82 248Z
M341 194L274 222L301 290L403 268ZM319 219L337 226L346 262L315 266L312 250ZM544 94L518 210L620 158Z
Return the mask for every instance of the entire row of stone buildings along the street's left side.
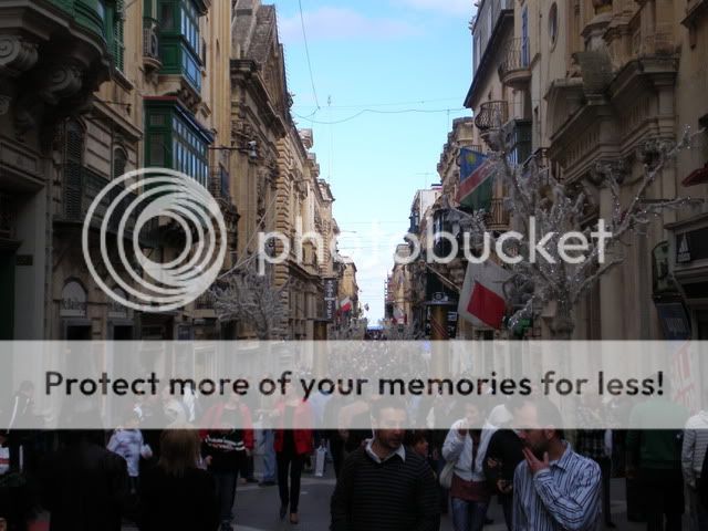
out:
M290 116L274 8L28 0L0 4L0 339L242 335L238 323L218 322L208 295L162 313L114 302L88 272L81 235L96 195L146 167L180 170L211 191L227 227L227 270L256 251L259 230L292 236L295 214L305 227L335 233L334 198ZM113 226L108 235L124 277L119 236ZM160 218L138 240L145 254L169 261L185 235ZM310 250L300 269L274 272L278 285L289 282L284 304L299 300L292 337L312 336L322 277L334 274L331 253L313 257ZM97 273L108 278L105 268Z

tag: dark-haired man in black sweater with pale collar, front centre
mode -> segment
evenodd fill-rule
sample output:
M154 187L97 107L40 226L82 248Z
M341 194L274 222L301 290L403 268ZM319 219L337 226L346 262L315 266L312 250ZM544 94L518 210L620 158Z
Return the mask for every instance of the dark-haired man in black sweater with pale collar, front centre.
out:
M332 496L331 531L437 531L437 489L427 461L403 446L405 405L373 406L374 438L344 461Z

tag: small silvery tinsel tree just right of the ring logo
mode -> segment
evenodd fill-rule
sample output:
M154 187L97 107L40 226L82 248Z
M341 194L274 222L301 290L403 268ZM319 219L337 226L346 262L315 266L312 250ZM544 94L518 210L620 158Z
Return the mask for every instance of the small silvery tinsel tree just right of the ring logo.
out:
M249 326L259 340L280 340L288 331L283 293L288 283L277 288L270 270L259 274L256 260L230 271L211 288L215 311L220 321L238 321Z

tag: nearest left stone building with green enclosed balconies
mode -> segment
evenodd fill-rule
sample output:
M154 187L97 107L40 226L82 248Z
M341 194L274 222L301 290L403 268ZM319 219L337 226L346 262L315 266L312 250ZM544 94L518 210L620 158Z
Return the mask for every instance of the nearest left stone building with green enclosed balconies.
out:
M230 142L222 119L229 80L219 74L228 66L230 6L20 3L0 8L8 9L3 31L15 46L1 61L9 111L0 188L14 241L3 262L3 292L12 293L4 300L3 337L191 336L189 308L153 315L110 300L87 271L81 227L93 198L132 169L180 169L208 186L209 147L217 137ZM31 95L28 83L40 93ZM11 199L15 192L20 201ZM140 235L140 246L169 259L179 246L170 229L160 222ZM112 238L110 248L116 232ZM96 244L92 230L88 246Z

